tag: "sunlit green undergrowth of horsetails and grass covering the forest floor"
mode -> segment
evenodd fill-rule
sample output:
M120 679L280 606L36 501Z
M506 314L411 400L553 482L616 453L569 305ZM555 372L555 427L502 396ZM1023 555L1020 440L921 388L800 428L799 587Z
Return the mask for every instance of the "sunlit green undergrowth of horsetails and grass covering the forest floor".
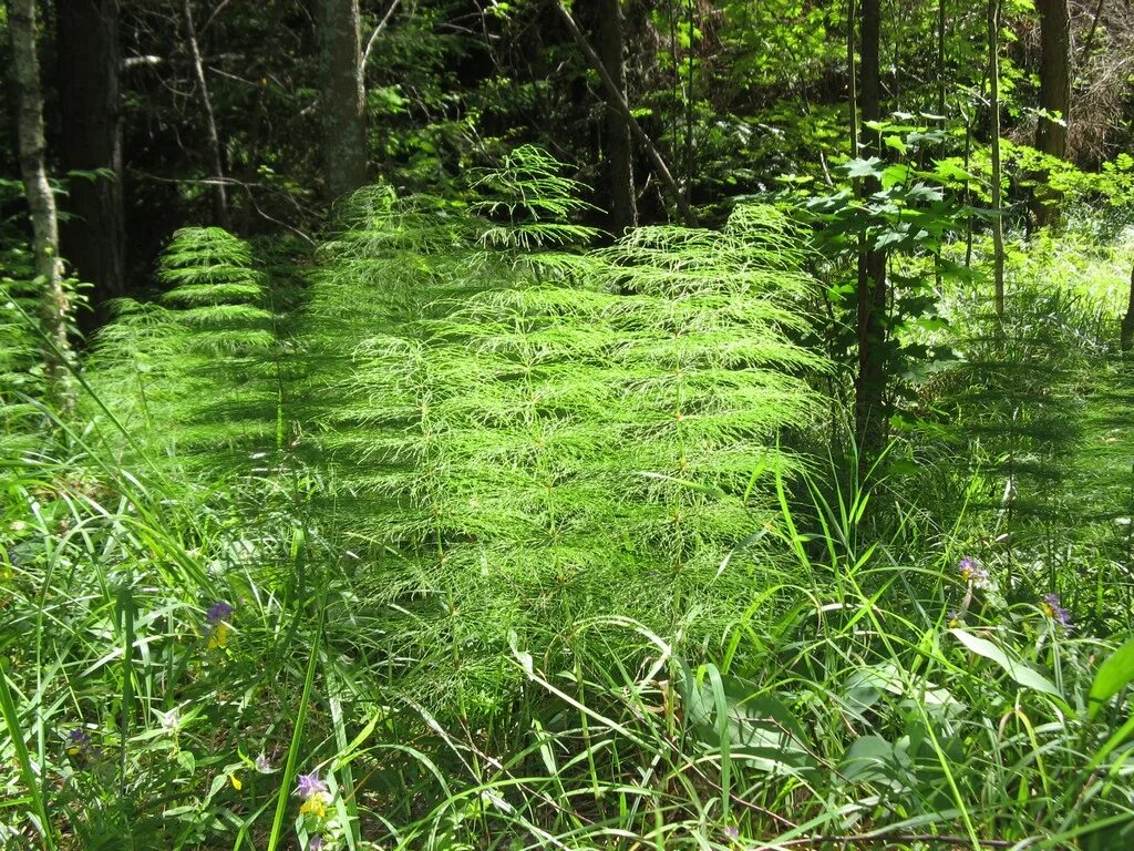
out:
M860 473L789 210L466 189L179 231L5 385L6 848L1134 844L1127 243L947 281Z

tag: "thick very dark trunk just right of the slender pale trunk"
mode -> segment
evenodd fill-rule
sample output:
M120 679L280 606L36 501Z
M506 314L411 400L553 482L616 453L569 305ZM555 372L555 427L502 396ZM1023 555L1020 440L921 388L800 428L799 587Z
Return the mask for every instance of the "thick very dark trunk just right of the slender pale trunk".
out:
M122 295L126 280L118 0L58 0L56 17L62 168L107 172L70 182L62 253L99 305Z

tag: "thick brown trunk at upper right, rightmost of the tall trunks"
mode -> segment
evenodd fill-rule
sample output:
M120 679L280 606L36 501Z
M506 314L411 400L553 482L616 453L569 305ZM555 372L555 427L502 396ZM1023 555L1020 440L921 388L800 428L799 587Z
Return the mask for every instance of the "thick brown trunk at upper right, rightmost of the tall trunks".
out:
M1035 8L1040 12L1040 107L1048 113L1036 124L1035 148L1064 159L1070 111L1070 9L1067 0L1036 0ZM1055 218L1058 202L1048 187L1036 187L1032 211L1038 225Z

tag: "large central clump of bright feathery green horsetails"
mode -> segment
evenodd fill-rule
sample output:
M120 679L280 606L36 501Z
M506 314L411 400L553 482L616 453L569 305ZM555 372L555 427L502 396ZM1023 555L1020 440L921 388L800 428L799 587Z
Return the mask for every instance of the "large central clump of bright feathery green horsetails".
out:
M720 567L765 520L753 471L793 469L777 437L814 410L780 213L573 253L591 234L557 168L522 149L468 207L365 191L313 295L338 531L399 554L371 580L375 651L434 705L503 699L509 629L700 612L708 635L756 581Z

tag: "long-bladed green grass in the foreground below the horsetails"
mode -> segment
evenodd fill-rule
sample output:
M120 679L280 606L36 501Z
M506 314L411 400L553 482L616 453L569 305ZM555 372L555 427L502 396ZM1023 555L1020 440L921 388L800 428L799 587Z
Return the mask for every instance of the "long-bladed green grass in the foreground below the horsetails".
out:
M617 617L514 635L524 685L471 728L388 700L311 530L242 524L234 551L238 492L203 509L122 475L108 507L59 472L9 467L6 489L11 842L1101 849L1134 829L1122 635L1007 603L993 565L966 582L916 513L872 540L863 490L812 480L798 512L781 491L767 531L796 565L711 646ZM329 792L296 820L301 773Z

